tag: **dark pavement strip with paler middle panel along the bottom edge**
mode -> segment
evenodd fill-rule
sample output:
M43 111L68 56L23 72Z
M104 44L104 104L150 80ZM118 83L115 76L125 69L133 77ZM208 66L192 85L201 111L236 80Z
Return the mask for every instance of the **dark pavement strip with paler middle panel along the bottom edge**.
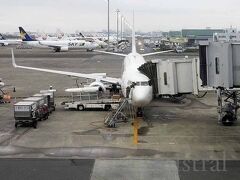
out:
M0 177L3 180L238 180L239 166L239 161L1 159Z

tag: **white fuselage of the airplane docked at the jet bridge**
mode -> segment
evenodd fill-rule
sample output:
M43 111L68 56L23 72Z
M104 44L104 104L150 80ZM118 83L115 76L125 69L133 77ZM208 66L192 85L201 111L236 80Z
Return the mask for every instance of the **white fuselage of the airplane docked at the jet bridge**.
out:
M144 63L145 59L138 53L127 55L123 62L122 92L124 97L131 99L131 104L135 107L144 107L152 101L153 89L149 85L149 78L138 70ZM127 88L133 83L134 86L127 97Z

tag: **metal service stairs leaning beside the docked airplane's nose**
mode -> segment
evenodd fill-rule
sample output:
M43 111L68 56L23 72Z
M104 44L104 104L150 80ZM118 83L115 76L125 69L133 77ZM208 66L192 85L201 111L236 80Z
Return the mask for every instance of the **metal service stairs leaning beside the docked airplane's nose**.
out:
M131 114L132 108L129 104L129 99L124 99L116 111L113 111L108 114L105 119L104 124L108 127L116 127L116 123L126 122L127 121L127 113L124 111L128 111L128 114Z

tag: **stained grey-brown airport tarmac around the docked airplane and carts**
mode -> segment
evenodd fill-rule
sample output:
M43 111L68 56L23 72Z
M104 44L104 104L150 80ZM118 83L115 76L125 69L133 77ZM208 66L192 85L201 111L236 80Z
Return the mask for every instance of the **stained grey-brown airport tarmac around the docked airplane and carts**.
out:
M14 49L14 52L19 65L81 73L107 73L110 77L121 75L122 58L112 55L85 51L54 53L48 49ZM197 56L170 53L151 58L182 58L185 55L189 58ZM169 99L155 99L144 109L145 121L140 122L139 143L134 145L132 121L110 129L103 123L108 114L106 111L64 110L61 106L61 102L67 98L64 90L76 87L76 79L14 69L8 47L0 48L0 77L6 84L12 85L7 87L6 91L13 97L12 103L0 105L0 167L12 167L13 164L14 167L26 166L25 170L19 170L25 172L38 162L35 172L39 173L38 177L43 177L42 179L46 172L43 167L50 166L49 163L53 163L49 172L55 172L53 167L57 170L66 169L69 171L68 177L72 177L69 179L79 179L83 171L77 169L82 167L87 169L84 171L86 176L83 175L86 178L83 179L238 177L239 122L233 126L218 124L214 92L208 93L204 98L188 95L180 103ZM80 79L78 82L86 80ZM39 122L37 129L15 129L14 101L20 101L21 98L47 89L50 85L57 89L56 111L48 120ZM13 86L16 92L12 91ZM186 162L189 163L188 169ZM194 162L206 162L208 169L196 171ZM226 162L226 169L212 171L215 162ZM182 167L186 171L183 171ZM72 171L71 168L77 169ZM8 171L0 168L0 175L5 175L8 179L14 177L11 172L11 168ZM29 179L27 173L20 177ZM60 177L64 179L65 176L60 173L58 179L61 179Z

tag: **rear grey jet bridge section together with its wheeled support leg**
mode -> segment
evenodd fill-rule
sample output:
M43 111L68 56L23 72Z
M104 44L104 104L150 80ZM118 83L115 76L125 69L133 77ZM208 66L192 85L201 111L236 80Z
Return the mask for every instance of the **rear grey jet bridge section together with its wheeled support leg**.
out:
M218 120L230 125L240 107L240 42L200 42L199 58L202 85L217 90Z

